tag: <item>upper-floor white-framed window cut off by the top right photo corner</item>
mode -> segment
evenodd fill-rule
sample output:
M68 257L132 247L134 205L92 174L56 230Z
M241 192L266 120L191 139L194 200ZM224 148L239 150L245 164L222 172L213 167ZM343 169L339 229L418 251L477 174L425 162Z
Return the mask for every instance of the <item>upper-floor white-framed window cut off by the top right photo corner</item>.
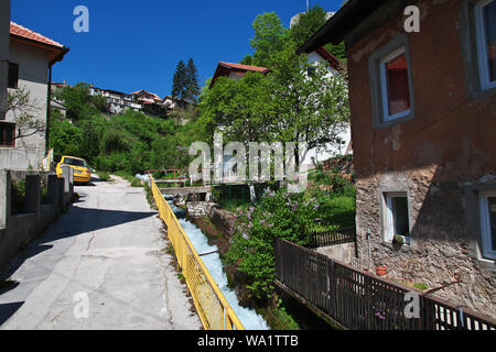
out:
M496 1L475 6L475 34L481 89L496 88Z

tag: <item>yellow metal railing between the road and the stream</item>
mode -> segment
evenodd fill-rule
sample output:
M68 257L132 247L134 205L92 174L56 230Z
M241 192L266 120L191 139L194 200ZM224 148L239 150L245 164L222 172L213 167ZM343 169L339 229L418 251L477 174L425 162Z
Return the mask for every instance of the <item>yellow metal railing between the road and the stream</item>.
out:
M186 279L203 327L205 330L244 330L239 318L212 278L151 175L150 183L160 218L168 227L169 240L174 246L179 266Z

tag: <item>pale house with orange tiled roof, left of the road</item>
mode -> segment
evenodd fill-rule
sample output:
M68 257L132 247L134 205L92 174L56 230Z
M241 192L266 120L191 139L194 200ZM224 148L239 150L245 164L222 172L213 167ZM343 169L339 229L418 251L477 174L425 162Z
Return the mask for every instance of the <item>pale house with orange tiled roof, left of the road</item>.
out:
M3 12L3 10L2 10ZM3 33L3 32L2 32ZM30 129L20 135L19 117L28 113L48 125L50 80L52 66L68 52L64 45L10 22L8 56L8 91L29 94L29 101L17 110L7 112L0 122L0 168L41 169L47 144L47 131L32 133Z

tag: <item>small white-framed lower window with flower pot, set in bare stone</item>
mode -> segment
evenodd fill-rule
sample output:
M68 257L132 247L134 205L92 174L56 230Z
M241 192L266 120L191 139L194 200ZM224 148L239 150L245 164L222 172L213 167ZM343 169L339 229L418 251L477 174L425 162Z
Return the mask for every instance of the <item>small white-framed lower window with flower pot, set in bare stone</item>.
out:
M410 244L410 218L406 193L385 194L384 240L392 242L395 237Z

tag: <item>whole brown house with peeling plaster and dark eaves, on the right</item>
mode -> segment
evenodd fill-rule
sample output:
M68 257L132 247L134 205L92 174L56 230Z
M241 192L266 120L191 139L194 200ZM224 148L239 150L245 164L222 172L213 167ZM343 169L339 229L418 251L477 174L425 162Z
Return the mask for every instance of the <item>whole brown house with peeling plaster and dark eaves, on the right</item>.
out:
M351 0L300 51L342 41L356 264L495 317L496 0Z

